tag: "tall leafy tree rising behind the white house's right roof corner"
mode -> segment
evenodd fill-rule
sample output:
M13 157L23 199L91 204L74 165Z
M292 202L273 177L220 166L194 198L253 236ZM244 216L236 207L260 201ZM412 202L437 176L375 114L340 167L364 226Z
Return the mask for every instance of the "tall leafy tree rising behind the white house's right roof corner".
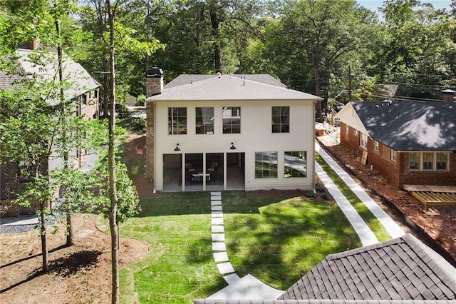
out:
M322 71L328 72L337 60L361 46L364 35L352 0L289 1L282 19L284 34L294 36L314 74L314 93L321 96ZM316 117L321 117L321 103L316 104Z

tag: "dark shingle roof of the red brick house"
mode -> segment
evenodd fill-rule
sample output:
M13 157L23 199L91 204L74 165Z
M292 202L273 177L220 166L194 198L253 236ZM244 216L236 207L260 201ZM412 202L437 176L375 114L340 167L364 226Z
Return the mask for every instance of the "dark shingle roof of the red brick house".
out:
M456 103L352 101L368 135L395 151L456 151Z

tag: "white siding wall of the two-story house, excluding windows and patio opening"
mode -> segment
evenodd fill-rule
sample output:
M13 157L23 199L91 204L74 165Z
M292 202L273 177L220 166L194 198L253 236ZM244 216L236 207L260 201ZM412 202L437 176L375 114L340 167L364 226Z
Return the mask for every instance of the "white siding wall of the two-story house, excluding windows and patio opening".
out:
M314 188L314 101L155 101L155 188L163 188L163 154L245 153L245 189ZM168 135L168 107L187 107L187 134ZM195 107L214 106L214 134L195 133ZM241 133L222 133L222 107L241 107ZM271 106L290 106L290 133L271 132ZM229 150L231 143L237 150ZM174 148L179 143L180 151ZM278 153L278 178L255 178L254 153ZM307 151L307 177L284 178L284 151Z

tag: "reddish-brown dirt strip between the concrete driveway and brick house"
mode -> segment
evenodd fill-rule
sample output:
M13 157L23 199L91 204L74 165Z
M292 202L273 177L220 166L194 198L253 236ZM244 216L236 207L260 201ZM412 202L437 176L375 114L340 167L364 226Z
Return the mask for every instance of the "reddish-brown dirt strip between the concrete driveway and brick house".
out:
M456 208L440 206L431 209L434 215L425 213L423 204L407 191L398 191L391 188L380 173L371 170L368 165L363 165L361 159L347 148L336 145L336 141L333 138L334 134L332 132L329 135L318 137L318 141L323 143L326 150L341 160L339 161L341 166L350 168L356 174L357 178L355 179L358 179L359 183L361 183L360 180L364 181L371 188L375 189L375 191L381 193L389 201L392 201L400 211L423 228L434 240L437 240L456 259ZM375 196L372 192L369 194ZM387 206L382 206L382 208L390 216L396 218Z

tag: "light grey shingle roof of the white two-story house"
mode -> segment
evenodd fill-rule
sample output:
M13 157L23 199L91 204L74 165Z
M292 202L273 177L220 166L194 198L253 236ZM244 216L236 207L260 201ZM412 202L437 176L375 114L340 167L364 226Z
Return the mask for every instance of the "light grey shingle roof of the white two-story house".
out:
M197 79L195 81L195 79ZM321 100L320 97L290 90L269 75L181 75L162 93L147 98L155 101L217 100Z

